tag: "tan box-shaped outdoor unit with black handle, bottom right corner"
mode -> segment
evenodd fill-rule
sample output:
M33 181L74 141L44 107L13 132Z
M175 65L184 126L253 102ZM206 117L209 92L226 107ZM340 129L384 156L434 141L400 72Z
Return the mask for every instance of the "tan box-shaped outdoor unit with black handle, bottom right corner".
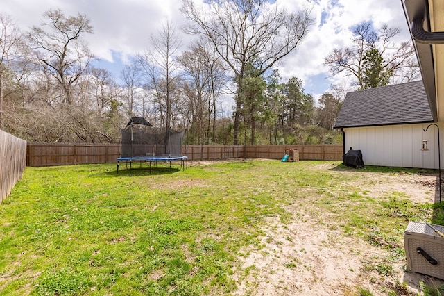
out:
M444 279L444 226L410 222L404 231L407 268Z

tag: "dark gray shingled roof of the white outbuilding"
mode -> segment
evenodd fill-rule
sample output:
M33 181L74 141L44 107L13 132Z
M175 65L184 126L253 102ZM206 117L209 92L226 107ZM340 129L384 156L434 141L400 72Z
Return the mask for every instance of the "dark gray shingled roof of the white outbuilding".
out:
M433 122L422 81L348 92L335 129Z

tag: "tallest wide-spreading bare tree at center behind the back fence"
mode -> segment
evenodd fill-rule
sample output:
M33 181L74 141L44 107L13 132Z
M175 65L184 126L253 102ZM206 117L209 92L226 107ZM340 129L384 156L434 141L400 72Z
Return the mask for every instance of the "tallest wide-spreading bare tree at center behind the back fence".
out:
M237 90L241 90L247 65L257 75L296 49L312 24L310 11L287 13L266 0L210 1L210 8L196 6L194 0L183 0L181 11L193 24L187 33L202 35L233 72ZM237 99L234 114L234 145L238 144L241 101Z

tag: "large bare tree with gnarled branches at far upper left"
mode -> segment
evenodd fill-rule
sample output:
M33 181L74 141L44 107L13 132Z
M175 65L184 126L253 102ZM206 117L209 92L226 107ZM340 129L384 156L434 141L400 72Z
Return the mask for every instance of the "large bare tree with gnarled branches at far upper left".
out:
M60 87L60 101L72 103L71 88L75 85L94 55L80 37L92 33L85 15L66 17L61 10L47 10L46 22L33 26L28 33L29 43L36 54L35 63L46 77L55 79Z

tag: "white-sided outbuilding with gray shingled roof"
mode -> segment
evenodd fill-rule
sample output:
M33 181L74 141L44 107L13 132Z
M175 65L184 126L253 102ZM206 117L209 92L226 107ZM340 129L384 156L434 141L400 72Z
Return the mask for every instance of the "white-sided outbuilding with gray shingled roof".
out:
M438 131L422 81L348 92L334 125L366 165L438 168ZM440 126L441 127L441 126ZM422 140L429 151L421 151Z

